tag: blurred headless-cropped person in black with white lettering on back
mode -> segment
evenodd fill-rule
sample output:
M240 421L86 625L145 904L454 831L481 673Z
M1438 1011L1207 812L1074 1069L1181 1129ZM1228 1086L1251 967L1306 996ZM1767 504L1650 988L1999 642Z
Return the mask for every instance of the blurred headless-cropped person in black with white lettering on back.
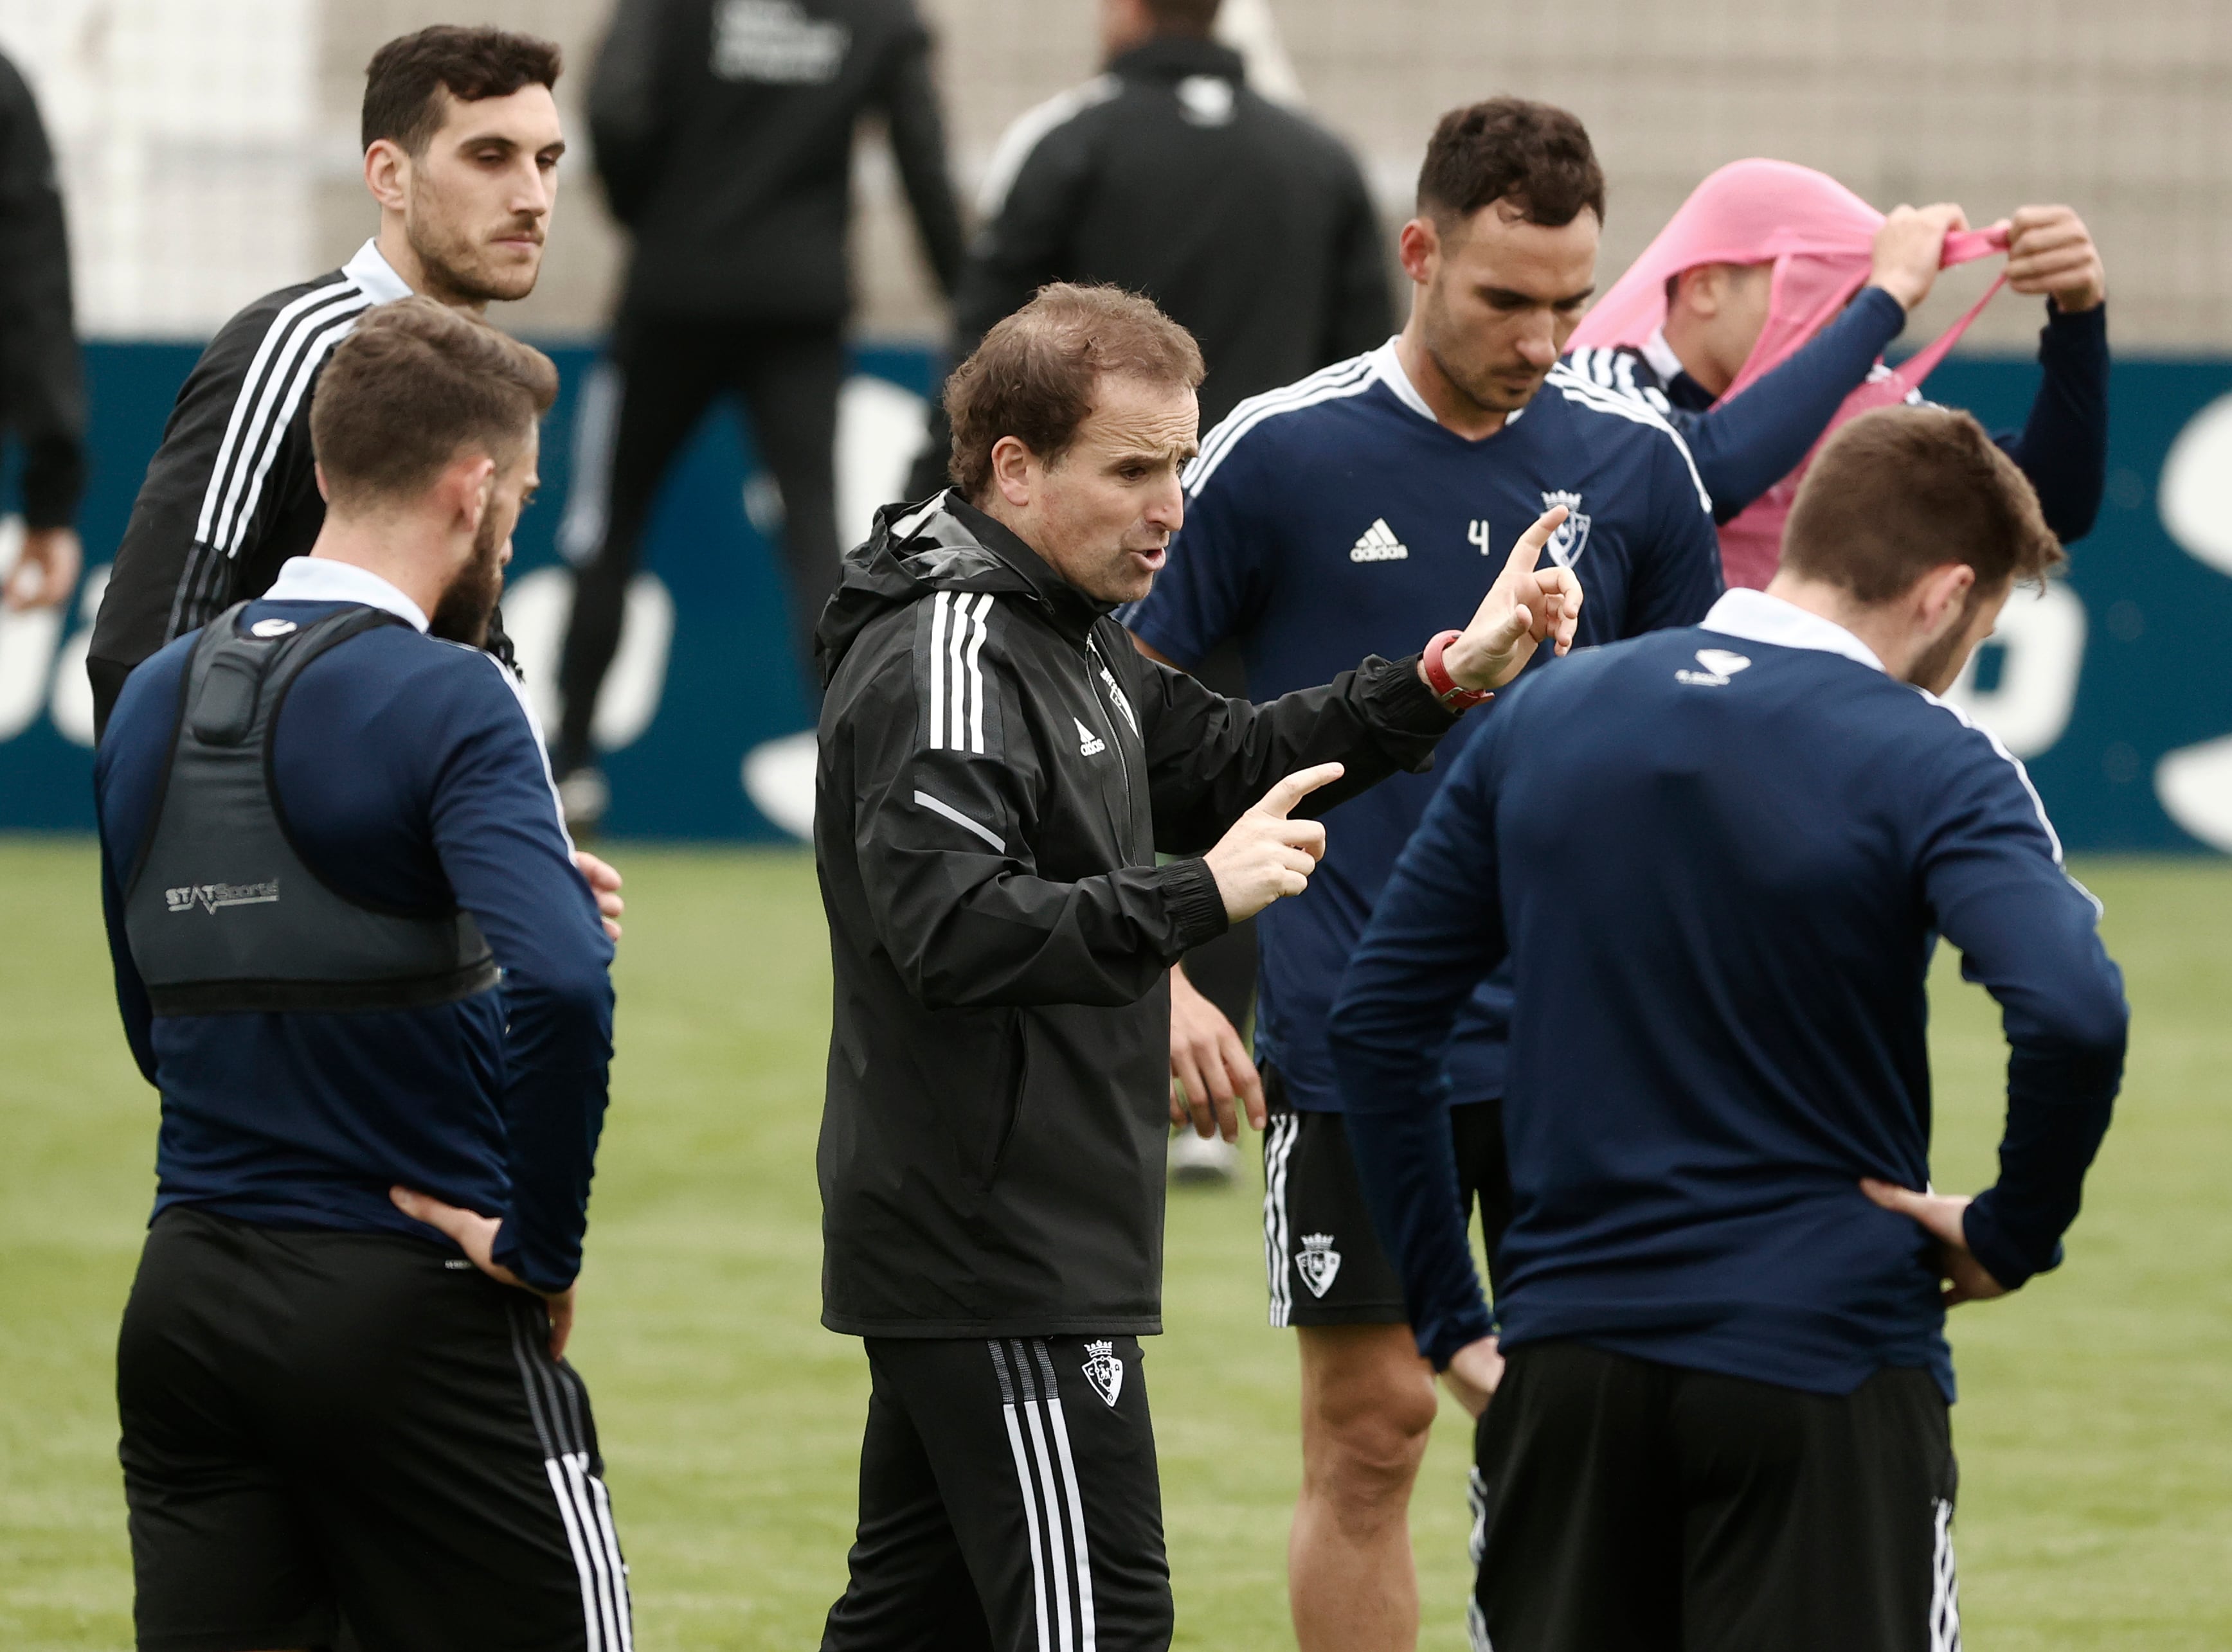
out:
M589 766L627 578L676 449L743 397L783 500L792 636L810 654L837 589L853 127L882 109L937 284L960 208L913 0L623 0L589 85L589 132L634 257L605 388L585 397L583 476L560 542L578 567L558 681L560 777ZM571 799L569 799L571 801ZM598 813L594 806L583 815Z

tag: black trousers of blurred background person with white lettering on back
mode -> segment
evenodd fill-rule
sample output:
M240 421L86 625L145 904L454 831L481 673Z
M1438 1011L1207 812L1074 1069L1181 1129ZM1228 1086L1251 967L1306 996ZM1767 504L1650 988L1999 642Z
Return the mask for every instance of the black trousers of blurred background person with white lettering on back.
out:
M574 623L558 661L565 717L558 770L589 759L596 694L620 645L627 580L674 455L716 395L750 413L752 442L783 498L790 636L810 676L812 632L837 589L837 393L844 337L835 326L777 326L623 315L614 328L616 397L583 404L567 551L576 558ZM808 690L808 701L817 690Z

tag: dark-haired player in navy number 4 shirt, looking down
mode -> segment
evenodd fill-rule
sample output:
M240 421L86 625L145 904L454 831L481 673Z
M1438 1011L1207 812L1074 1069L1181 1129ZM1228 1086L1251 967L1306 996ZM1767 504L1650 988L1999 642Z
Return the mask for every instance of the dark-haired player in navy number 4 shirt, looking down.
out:
M1596 281L1600 219L1603 172L1574 116L1518 98L1449 114L1402 234L1415 284L1404 333L1241 402L1203 440L1170 565L1127 616L1141 645L1190 667L1237 636L1252 699L1326 681L1344 656L1384 652L1478 601L1551 507L1567 516L1549 554L1587 596L1582 645L1703 618L1721 558L1683 440L1656 411L1558 366ZM1299 1328L1303 1362L1290 1587L1306 1652L1415 1641L1406 1509L1433 1422L1399 1279L1357 1199L1324 1022L1440 772L1493 717L1475 710L1435 772L1330 810L1310 891L1257 920L1266 1264L1272 1324ZM1187 1098L1239 1092L1261 1107L1232 1029L1183 973L1172 987ZM1502 1087L1500 1025L1489 991L1451 1051L1451 1127L1489 1203L1500 1203L1500 1136L1478 1103ZM1230 1101L1221 1110L1230 1132Z

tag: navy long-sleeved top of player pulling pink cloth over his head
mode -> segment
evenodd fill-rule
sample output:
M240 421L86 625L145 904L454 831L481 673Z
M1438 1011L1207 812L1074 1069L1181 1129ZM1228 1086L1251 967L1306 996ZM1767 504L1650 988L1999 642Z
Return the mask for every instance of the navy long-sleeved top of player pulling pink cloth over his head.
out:
M1672 350L1591 348L1569 359L1683 433L1712 493L1712 518L1725 522L1797 469L1904 326L1895 297L1861 288L1801 350L1725 402L1683 373ZM2031 417L1993 440L2031 478L2047 527L2069 545L2091 534L2107 487L2107 306L2065 315L2049 301L2038 366Z

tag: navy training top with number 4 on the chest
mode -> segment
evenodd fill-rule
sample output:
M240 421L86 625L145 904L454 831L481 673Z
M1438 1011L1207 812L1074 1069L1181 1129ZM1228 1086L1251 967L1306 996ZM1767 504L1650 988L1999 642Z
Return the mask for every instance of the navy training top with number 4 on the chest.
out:
M1571 511L1549 554L1580 578L1580 645L1692 625L1721 594L1710 500L1681 438L1565 366L1500 431L1469 440L1433 417L1391 339L1241 402L1201 444L1185 493L1167 567L1120 618L1183 667L1239 636L1254 701L1466 625L1553 502ZM1295 1107L1339 1110L1324 1034L1335 985L1453 755L1495 714L1469 714L1433 770L1328 810L1310 889L1257 918L1257 1051ZM1460 1031L1451 1101L1502 1094L1502 1000L1484 987Z

